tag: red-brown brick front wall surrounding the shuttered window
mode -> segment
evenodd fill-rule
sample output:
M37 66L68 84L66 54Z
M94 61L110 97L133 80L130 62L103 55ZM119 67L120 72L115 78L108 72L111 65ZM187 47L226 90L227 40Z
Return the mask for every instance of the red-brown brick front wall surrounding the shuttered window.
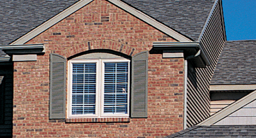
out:
M149 54L148 118L113 122L49 120L49 54L92 49L133 56L153 42L175 42L105 0L94 0L27 44L44 44L36 62L14 62L14 138L162 138L183 129L183 59ZM78 120L76 120L77 122Z

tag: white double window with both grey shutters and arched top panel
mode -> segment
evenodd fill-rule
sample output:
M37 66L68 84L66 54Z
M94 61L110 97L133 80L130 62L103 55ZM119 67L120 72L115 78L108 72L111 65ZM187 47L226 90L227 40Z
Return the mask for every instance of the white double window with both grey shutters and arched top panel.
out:
M49 119L146 118L147 59L147 51L130 59L93 52L69 61L50 54Z

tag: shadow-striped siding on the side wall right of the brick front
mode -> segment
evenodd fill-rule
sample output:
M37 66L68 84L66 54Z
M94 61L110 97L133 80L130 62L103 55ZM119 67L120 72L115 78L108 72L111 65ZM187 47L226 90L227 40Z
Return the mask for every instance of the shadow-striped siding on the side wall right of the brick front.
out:
M201 39L202 49L209 57L211 65L206 68L195 68L189 64L187 89L187 127L196 125L210 116L209 83L217 64L218 57L225 42L220 1L213 13Z

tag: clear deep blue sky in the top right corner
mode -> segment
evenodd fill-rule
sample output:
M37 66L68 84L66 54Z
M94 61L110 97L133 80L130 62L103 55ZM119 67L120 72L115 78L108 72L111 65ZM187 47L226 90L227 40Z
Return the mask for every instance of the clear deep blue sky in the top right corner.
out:
M256 40L256 0L222 0L227 40Z

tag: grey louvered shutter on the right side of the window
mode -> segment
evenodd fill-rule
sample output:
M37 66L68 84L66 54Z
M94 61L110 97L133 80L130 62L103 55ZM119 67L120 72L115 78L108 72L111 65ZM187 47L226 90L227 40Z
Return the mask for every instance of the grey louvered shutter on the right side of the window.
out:
M147 118L147 61L148 51L131 60L131 118Z

